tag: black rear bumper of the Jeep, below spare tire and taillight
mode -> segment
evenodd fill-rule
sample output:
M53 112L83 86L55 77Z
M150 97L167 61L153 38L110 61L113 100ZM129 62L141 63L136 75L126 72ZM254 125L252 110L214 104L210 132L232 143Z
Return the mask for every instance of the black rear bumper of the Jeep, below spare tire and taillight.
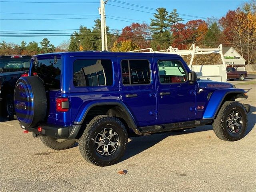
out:
M28 131L32 131L40 136L49 136L59 139L74 139L76 138L78 131L80 130L81 125L72 125L72 126L58 126L53 124L40 124L38 127L41 128L41 131L38 131L38 128L21 128Z

